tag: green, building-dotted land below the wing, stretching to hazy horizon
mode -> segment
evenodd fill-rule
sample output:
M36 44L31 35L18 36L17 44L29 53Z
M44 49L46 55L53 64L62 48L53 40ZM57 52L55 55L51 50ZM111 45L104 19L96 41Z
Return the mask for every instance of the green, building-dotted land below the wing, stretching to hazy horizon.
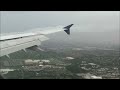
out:
M100 48L43 42L44 51L24 50L1 57L8 79L120 79L119 47ZM74 47L73 47L74 46Z

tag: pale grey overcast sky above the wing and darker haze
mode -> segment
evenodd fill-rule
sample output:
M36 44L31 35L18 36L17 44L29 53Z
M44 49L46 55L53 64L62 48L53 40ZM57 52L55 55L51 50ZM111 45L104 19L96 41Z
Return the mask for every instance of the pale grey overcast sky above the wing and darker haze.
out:
M1 11L1 33L75 24L74 31L119 31L119 11Z

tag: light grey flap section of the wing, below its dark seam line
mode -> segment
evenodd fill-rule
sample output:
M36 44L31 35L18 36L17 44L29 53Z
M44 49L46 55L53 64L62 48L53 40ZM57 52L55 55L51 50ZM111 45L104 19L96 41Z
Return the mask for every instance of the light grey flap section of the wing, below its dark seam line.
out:
M45 40L48 40L48 38L42 35L0 42L0 56L8 55L10 53L14 53L16 51L35 45L39 46L41 44L41 41Z

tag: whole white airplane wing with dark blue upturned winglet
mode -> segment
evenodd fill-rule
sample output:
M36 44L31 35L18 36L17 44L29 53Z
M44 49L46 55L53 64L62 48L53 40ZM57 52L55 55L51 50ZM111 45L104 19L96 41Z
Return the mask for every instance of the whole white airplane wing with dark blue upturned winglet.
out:
M42 30L40 28L33 29L31 32L19 33L12 35L1 35L0 36L0 57L14 53L19 50L31 49L31 50L42 50L38 46L41 45L42 41L48 40L45 35L56 33L59 31L65 31L70 35L70 27L73 24L70 24L66 27L54 27L54 28L45 28Z

